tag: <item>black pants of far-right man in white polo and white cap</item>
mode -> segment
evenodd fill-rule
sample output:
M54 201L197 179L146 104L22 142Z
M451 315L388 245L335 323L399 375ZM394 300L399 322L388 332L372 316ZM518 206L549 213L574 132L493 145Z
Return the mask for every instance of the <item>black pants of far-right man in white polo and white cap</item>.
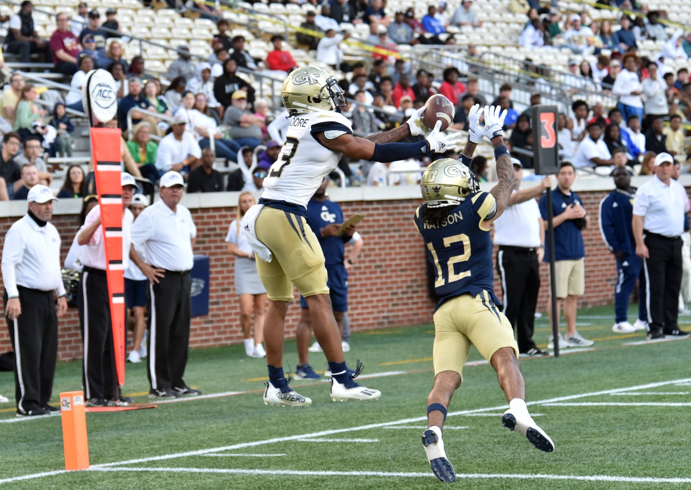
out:
M679 290L681 289L681 238L645 233L648 258L643 261L646 282L648 328L650 332L672 333L679 326Z

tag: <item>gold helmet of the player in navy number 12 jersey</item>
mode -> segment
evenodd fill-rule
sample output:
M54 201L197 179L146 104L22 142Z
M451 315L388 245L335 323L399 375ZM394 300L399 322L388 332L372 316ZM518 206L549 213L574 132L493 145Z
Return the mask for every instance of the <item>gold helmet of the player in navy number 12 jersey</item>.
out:
M479 191L480 184L465 164L453 158L441 158L422 174L420 190L428 207L442 207L462 202Z

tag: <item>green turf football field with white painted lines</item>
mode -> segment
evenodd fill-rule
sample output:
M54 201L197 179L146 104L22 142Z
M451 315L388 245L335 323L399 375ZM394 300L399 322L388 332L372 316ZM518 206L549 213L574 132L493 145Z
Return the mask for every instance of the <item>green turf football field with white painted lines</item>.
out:
M357 320L357 319L356 319ZM688 317L681 317L682 328ZM691 341L646 343L612 333L612 308L580 310L596 340L558 359L521 359L531 413L554 440L542 453L503 428L494 370L475 350L449 408L444 442L465 489L691 488ZM536 339L544 348L546 319ZM328 383L292 381L308 408L265 406L265 361L243 346L193 350L187 384L204 396L158 408L88 413L91 469L65 472L59 416L15 417L0 405L0 488L11 489L428 489L420 435L433 381L433 328L354 334L346 355L365 364L376 402L331 402ZM296 363L294 341L285 361ZM312 366L325 370L321 354ZM57 366L53 400L77 390L81 362ZM12 397L11 373L0 393ZM128 364L124 394L147 402L145 365Z

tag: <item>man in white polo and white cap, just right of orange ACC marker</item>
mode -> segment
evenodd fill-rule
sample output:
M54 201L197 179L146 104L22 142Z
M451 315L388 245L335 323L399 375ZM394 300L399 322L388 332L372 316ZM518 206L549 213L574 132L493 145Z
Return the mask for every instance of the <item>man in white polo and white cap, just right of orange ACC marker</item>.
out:
M180 205L184 180L169 171L158 182L161 198L138 216L132 244L144 248L146 262L132 256L149 279L149 398L201 395L182 380L189 349L192 246L197 229Z

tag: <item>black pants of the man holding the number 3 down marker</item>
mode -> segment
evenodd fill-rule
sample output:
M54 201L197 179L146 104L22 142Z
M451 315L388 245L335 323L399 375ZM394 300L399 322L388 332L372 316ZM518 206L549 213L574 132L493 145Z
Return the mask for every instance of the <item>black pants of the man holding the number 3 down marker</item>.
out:
M497 269L504 292L504 314L516 332L518 351L536 348L535 309L540 292L540 266L535 249L500 246Z

